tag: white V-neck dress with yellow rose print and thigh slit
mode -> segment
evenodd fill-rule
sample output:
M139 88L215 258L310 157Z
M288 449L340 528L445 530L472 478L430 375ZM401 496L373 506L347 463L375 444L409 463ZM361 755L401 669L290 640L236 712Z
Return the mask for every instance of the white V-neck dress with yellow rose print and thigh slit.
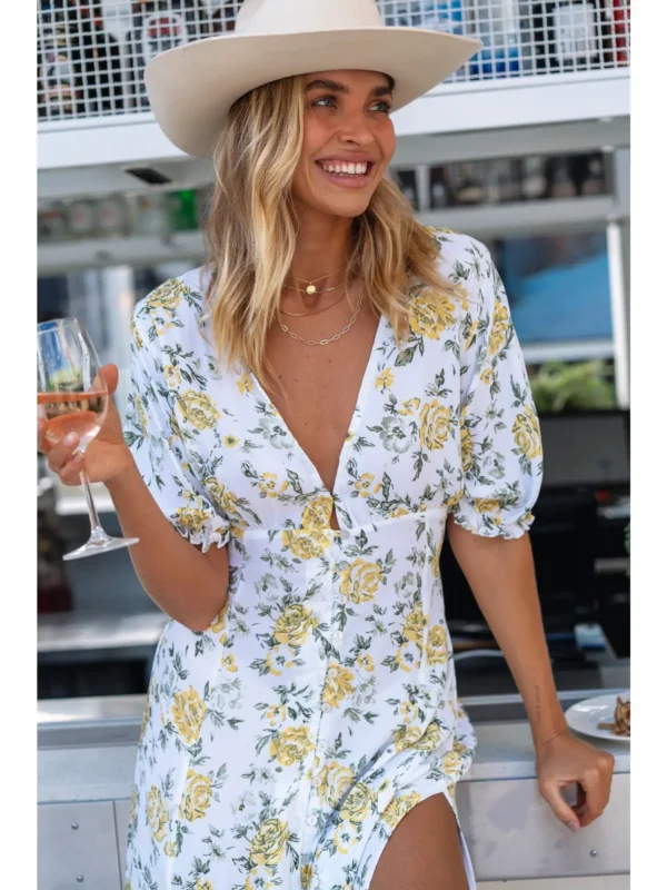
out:
M127 442L176 528L228 546L230 580L206 631L170 621L158 644L126 888L362 890L439 793L475 887L439 554L448 514L528 530L541 445L487 248L432 235L449 291L410 295L402 352L380 318L331 494L250 370L216 369L202 273L136 308Z

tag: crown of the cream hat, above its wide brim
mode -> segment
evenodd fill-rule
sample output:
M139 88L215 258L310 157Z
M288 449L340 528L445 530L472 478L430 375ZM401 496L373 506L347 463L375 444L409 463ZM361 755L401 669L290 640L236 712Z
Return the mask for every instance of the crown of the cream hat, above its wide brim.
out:
M236 33L295 33L380 28L375 0L246 0Z

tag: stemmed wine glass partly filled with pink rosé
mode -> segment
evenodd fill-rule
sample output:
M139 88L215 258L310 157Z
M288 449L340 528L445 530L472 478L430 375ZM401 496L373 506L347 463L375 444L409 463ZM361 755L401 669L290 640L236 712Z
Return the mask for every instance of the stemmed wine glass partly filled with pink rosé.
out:
M83 453L100 432L109 393L86 327L76 318L59 318L37 326L37 416L46 423L46 438L57 445L68 433L79 436ZM90 516L90 538L63 556L81 560L137 544L138 537L111 537L100 524L86 471L81 485Z

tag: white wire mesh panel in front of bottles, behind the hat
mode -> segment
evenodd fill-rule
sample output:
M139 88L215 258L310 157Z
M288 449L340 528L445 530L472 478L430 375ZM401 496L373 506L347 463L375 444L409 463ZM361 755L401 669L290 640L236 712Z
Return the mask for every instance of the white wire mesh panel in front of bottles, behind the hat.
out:
M148 110L158 52L235 28L241 0L39 0L42 122ZM448 82L618 69L630 59L630 0L378 0L389 26L477 37Z

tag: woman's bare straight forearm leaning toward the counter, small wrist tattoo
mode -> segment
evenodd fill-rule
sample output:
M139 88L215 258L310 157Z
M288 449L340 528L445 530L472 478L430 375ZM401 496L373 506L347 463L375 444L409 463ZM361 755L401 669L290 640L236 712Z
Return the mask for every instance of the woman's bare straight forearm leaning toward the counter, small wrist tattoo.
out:
M549 660L530 540L485 538L454 523L449 537L524 699L532 739L542 744L567 723Z

